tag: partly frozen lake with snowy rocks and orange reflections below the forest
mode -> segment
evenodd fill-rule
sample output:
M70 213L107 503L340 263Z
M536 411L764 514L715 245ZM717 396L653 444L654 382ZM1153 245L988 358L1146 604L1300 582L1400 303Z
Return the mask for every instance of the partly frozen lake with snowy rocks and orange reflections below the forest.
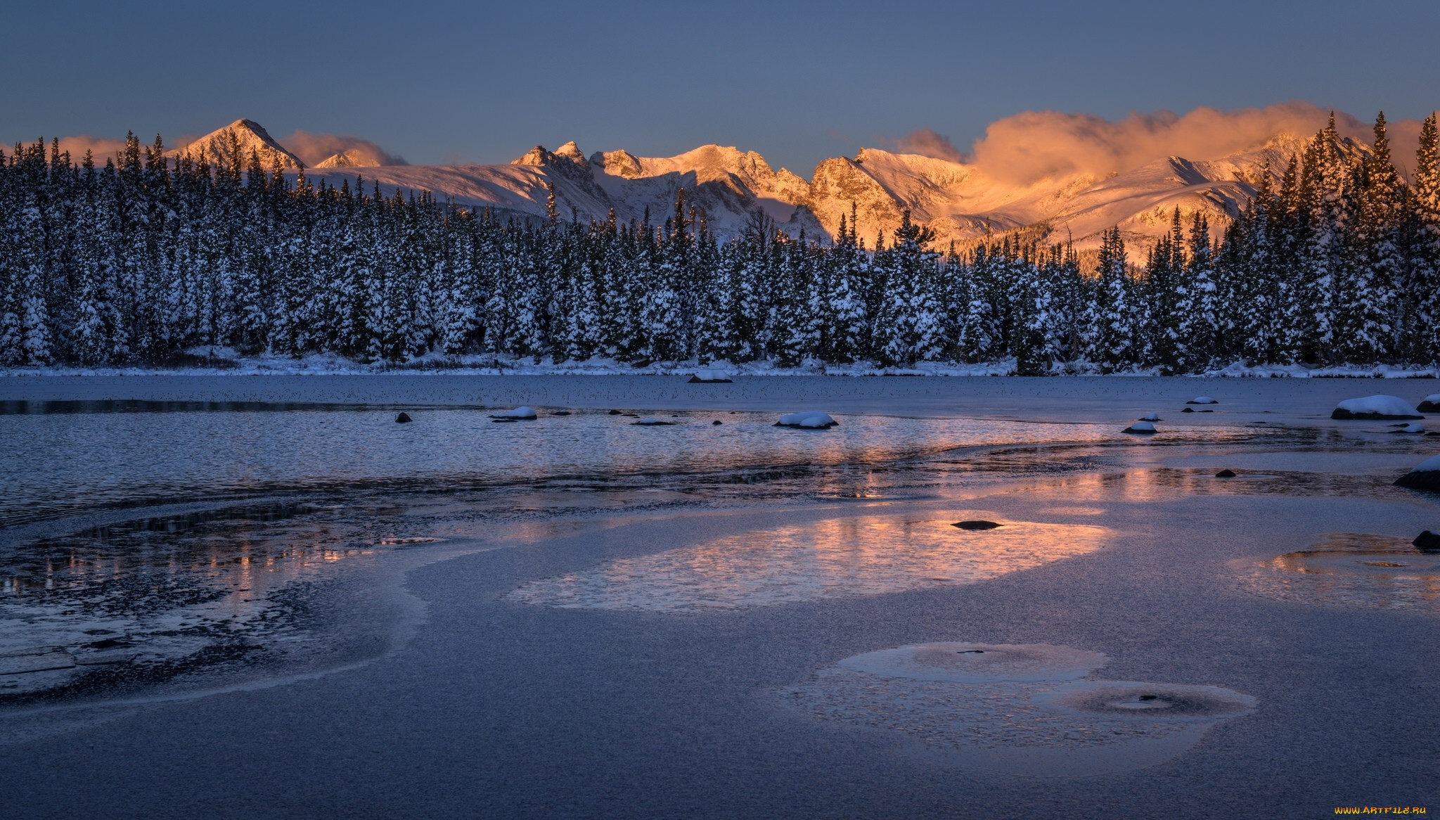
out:
M26 817L213 814L181 770L233 816L1426 806L1440 563L1408 542L1440 496L1392 483L1440 438L1329 418L1377 392L1440 386L4 378L0 788Z

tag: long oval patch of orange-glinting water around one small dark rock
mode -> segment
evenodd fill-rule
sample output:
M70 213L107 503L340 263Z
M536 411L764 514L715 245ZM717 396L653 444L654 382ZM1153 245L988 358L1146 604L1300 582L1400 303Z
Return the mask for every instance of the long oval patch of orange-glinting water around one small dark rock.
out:
M1004 526L960 530L952 522ZM563 608L693 612L975 584L1099 549L1097 526L1015 522L963 510L861 516L753 530L520 587L514 601Z

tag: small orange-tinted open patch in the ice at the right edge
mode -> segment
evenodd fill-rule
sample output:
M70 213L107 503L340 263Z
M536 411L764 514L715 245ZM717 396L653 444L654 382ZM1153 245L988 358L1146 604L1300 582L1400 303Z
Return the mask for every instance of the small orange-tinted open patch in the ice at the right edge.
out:
M1251 566L1244 584L1283 601L1433 612L1440 611L1440 555L1404 538L1333 533L1313 549Z

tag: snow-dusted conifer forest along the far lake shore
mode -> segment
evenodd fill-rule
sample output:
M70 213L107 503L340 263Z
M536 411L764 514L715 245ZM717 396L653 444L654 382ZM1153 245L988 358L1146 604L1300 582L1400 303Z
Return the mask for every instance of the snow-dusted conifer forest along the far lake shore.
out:
M99 164L0 151L0 365L173 362L197 346L357 362L1012 360L1021 375L1440 360L1440 169L1411 182L1384 117L1356 153L1333 118L1227 225L1176 209L1143 255L1093 262L1017 236L935 248L904 215L832 244L756 219L717 239L684 192L662 222L517 222L435 197L288 179L252 160Z

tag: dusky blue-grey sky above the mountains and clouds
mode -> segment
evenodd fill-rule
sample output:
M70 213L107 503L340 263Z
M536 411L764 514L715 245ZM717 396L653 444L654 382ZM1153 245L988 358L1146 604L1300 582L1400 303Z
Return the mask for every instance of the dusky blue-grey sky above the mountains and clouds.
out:
M805 176L930 128L962 150L1028 110L1117 120L1306 99L1440 104L1440 3L24 3L0 140L147 141L239 117L412 163L537 143L734 144Z

